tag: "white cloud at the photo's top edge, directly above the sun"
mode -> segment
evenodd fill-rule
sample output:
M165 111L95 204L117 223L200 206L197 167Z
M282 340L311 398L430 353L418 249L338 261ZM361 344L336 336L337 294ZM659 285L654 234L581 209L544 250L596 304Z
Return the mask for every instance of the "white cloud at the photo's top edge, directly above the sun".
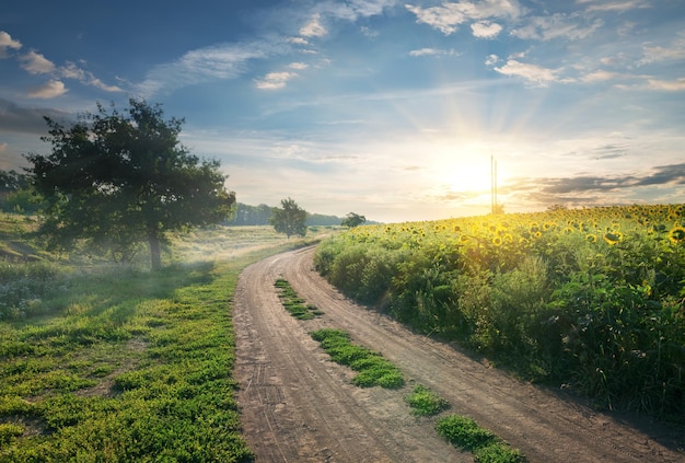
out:
M484 0L445 2L441 7L421 8L405 4L405 8L416 14L417 23L428 24L445 35L457 31L461 24L468 21L502 18L518 20L523 14L523 8L516 0Z

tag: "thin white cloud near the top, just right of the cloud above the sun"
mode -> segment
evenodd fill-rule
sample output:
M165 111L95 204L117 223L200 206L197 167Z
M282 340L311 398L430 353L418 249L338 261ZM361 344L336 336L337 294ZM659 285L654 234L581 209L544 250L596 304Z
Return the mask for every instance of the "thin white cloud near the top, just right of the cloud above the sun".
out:
M600 19L595 19L591 24L581 24L582 21L585 20L578 14L555 13L549 16L532 16L527 19L527 24L512 31L511 35L535 40L559 37L579 40L589 37L604 25L604 21Z

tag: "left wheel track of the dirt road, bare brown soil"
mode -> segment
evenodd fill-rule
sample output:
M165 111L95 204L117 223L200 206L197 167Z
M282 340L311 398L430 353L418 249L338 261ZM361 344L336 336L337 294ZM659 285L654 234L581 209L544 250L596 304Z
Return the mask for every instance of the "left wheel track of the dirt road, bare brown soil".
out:
M351 372L307 334L329 322L298 322L283 310L274 282L295 255L246 268L234 298L239 403L256 461L471 461L437 436L432 421L410 415L406 392L350 384Z

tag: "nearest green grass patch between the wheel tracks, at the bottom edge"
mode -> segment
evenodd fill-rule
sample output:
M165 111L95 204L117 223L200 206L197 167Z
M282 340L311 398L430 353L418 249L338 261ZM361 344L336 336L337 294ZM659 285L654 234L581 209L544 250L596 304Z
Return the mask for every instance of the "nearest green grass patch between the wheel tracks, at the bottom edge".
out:
M476 463L523 463L526 461L518 449L512 449L472 418L450 415L439 419L436 429L453 445L473 452Z

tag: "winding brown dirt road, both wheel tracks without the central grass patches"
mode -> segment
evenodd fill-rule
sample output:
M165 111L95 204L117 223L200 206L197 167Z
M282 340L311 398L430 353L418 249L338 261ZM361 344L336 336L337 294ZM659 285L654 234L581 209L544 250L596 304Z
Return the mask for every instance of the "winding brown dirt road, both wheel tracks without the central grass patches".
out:
M530 462L685 461L683 452L658 441L673 436L635 430L351 303L313 270L312 255L309 248L262 261L243 271L235 293L239 401L258 463L473 462L437 435L434 417L411 415L404 396L417 383L446 398L448 413L473 417ZM325 314L291 317L274 288L278 277ZM387 391L350 384L353 372L330 362L309 336L321 327L346 329L356 344L381 351L407 385Z

